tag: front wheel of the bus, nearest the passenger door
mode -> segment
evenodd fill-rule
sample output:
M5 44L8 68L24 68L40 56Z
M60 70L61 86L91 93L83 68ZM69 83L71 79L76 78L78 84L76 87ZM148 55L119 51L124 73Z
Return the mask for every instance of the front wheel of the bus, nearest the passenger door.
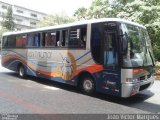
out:
M83 78L80 87L84 94L93 95L95 93L95 82L91 77Z

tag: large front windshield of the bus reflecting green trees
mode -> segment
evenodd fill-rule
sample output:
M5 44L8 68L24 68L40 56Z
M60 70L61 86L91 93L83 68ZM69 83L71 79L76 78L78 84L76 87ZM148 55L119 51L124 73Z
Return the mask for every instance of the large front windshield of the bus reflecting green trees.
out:
M153 66L153 53L151 41L145 28L122 24L123 47L123 67L144 67ZM123 48L124 49L124 48Z

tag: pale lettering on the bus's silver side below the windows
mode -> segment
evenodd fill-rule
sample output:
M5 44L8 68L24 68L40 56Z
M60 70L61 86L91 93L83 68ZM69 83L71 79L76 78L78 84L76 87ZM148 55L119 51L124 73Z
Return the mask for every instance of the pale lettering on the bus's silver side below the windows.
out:
M29 58L45 58L50 59L52 57L52 52L40 52L40 51L30 51L28 53Z

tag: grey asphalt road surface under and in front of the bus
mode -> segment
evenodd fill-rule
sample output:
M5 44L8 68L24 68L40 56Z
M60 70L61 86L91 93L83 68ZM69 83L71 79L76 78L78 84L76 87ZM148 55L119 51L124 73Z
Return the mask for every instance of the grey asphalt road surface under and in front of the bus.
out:
M160 81L127 99L104 94L94 97L77 88L46 79L20 79L0 66L0 113L104 114L160 113Z

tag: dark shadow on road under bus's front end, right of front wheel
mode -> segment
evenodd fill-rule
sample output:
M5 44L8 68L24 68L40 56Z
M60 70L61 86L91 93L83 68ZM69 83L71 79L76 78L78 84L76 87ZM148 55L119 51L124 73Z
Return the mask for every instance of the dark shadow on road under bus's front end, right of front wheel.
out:
M141 92L129 98L119 98L110 95L99 94L96 97L102 100L114 102L117 104L125 105L132 108L137 108L143 111L158 113L160 112L160 105L149 103L146 100L154 95L150 90Z

